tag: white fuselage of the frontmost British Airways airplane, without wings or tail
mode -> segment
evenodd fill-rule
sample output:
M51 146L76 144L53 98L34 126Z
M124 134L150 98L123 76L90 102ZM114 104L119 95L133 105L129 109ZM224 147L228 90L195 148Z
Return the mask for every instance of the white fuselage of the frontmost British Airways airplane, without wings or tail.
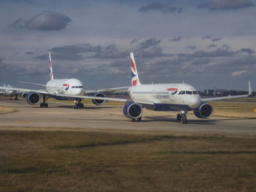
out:
M192 85L185 83L165 83L137 85L129 88L132 100L154 101L154 106L145 107L158 111L190 111L200 105L200 96Z

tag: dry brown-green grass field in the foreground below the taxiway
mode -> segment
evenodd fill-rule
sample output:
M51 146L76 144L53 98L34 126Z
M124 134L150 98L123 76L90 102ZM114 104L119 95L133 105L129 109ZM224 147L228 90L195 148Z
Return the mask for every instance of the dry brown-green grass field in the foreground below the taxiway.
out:
M250 137L0 131L0 191L255 191L255 159Z

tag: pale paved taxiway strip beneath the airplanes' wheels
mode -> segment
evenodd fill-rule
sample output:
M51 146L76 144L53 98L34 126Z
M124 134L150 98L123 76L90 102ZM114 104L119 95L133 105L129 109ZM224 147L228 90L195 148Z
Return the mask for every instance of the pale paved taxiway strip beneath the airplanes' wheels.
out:
M144 109L142 122L132 122L123 115L123 106L86 105L84 109L73 110L72 104L48 102L48 108L31 106L26 99L11 101L0 99L0 105L14 107L18 112L0 115L0 129L8 130L28 127L47 128L107 128L140 131L181 131L202 134L244 134L256 135L256 120L242 118L212 117L202 120L187 115L188 124L176 122L176 112L154 112Z

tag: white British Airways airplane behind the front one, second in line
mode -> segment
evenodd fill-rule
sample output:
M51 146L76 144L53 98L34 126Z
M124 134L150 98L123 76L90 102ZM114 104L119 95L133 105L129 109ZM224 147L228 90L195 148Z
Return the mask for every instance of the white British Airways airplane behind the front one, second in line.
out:
M75 105L74 109L76 108L83 108L83 104L80 103L81 97L84 96L86 93L94 93L93 96L97 97L100 96L105 97L103 93L99 91L85 91L83 86L83 82L77 79L54 79L53 78L53 67L50 58L49 52L49 61L50 61L50 80L46 83L46 85L37 84L33 82L22 82L30 85L39 85L45 88L45 90L32 90L32 89L25 89L25 88L12 88L12 87L0 87L0 89L4 91L12 91L13 93L17 91L21 91L27 93L26 101L29 104L36 105L39 104L41 101L41 95L43 97L42 103L40 103L40 107L48 107L46 101L50 96L58 99L58 100L74 100ZM102 105L105 103L105 100L98 100L92 99L94 104Z

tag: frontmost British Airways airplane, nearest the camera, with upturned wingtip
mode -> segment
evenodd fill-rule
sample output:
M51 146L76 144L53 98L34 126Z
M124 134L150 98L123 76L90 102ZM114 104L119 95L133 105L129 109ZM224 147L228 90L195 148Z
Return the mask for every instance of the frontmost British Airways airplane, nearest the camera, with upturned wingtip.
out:
M180 111L177 120L187 123L187 112L194 111L197 118L211 118L213 107L206 101L241 98L252 95L252 88L249 82L249 93L239 96L222 96L201 99L197 90L185 83L165 83L141 85L133 53L130 53L132 86L128 92L131 99L102 98L94 96L80 96L85 99L104 99L111 101L124 101L124 116L132 120L141 120L143 107L155 111Z

